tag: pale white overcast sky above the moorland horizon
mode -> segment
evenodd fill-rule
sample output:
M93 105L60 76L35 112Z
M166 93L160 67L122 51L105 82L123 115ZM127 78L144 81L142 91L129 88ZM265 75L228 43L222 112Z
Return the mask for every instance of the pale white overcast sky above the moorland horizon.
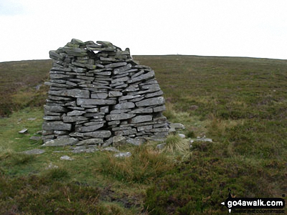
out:
M0 0L0 62L48 59L72 38L132 55L287 59L287 0Z

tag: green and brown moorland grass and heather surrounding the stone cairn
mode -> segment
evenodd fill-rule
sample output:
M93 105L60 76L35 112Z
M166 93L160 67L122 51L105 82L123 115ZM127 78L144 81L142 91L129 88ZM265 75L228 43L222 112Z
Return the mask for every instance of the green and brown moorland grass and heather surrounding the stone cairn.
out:
M40 201L54 196L53 203L47 203L48 208L57 206L59 214L61 210L66 210L66 214L94 210L99 214L213 215L226 214L220 202L226 199L228 188L238 197L282 197L286 193L287 60L133 57L155 70L167 100L164 115L169 121L184 124L186 129L182 133L188 137L206 136L213 142L193 142L185 152L161 152L160 159L151 159L149 156L154 155L150 153L136 152L142 148L131 151L143 156L115 159L112 154L102 152L53 153L67 150L59 147L46 149L44 154L23 159L24 162L13 161L15 153L41 145L41 141L29 137L41 130L43 109L35 106L44 104L47 88L36 91L32 87L48 77L51 61L0 63L1 115L20 110L0 119L0 191L19 183L11 189L10 198L0 195L2 211L28 214L36 207L29 203L29 196L44 192ZM29 117L37 119L29 121ZM23 127L28 128L27 134L18 133ZM62 161L62 155L75 160ZM167 169L164 160L172 160ZM45 167L50 162L66 172L44 180ZM157 167L159 173L155 171ZM36 180L36 186L31 177L42 179ZM99 199L93 198L97 206L86 197L77 197L78 203L71 206L67 195L58 195L57 189L64 192L67 184L73 183L79 186L73 189L84 192L81 196L89 193L82 189L84 185L93 189L99 195ZM105 192L99 194L97 189ZM28 193L23 195L28 196L27 200L19 199L21 192ZM75 191L75 195L79 192ZM125 203L132 201L132 206ZM85 204L90 205L86 211ZM52 209L40 209L39 214L52 213Z

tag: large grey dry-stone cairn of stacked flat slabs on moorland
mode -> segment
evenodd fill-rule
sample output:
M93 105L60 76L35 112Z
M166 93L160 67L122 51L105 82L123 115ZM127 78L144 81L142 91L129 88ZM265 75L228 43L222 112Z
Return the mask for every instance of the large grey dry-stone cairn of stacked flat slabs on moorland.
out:
M81 141L108 146L114 137L137 144L168 135L155 72L138 65L129 48L72 39L49 55L53 67L45 82L50 90L44 105L44 145L65 139L69 145Z

